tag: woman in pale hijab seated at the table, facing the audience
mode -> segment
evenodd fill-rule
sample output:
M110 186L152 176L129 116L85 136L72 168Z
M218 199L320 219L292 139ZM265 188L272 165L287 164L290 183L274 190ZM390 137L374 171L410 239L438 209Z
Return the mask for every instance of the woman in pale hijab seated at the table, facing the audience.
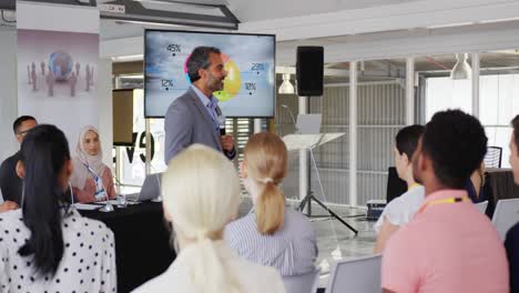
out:
M101 141L95 128L85 127L81 130L73 164L70 184L77 201L105 201L106 194L110 199L116 198L112 171L103 163Z

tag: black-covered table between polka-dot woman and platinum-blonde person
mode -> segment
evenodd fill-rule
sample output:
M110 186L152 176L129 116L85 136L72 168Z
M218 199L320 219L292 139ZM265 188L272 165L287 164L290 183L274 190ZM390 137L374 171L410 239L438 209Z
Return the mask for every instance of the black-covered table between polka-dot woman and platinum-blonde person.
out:
M170 231L162 214L162 203L145 202L114 206L114 212L80 211L99 220L115 235L118 292L130 292L163 273L176 254L170 245Z

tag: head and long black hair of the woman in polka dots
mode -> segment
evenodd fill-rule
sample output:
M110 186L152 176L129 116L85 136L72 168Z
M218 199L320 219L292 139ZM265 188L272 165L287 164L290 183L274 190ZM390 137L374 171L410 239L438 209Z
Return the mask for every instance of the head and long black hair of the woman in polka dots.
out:
M21 145L17 171L23 178L23 223L31 231L20 247L21 255L31 255L37 272L53 275L63 256L61 221L72 172L69 143L54 125L32 129Z

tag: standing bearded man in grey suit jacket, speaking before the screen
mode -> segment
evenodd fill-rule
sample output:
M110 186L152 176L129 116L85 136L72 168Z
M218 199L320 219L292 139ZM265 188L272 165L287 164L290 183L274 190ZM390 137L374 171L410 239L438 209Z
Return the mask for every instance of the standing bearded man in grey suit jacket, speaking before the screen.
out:
M221 135L224 117L213 92L223 89L227 75L221 52L213 47L197 47L187 61L191 88L173 103L165 115L165 153L167 164L183 149L202 143L234 159L236 151L230 135Z

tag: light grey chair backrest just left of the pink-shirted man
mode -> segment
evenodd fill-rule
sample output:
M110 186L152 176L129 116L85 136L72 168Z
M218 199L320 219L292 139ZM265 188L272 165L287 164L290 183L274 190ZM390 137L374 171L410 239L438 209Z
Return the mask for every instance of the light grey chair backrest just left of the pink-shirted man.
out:
M338 262L332 271L326 293L380 293L381 255Z

